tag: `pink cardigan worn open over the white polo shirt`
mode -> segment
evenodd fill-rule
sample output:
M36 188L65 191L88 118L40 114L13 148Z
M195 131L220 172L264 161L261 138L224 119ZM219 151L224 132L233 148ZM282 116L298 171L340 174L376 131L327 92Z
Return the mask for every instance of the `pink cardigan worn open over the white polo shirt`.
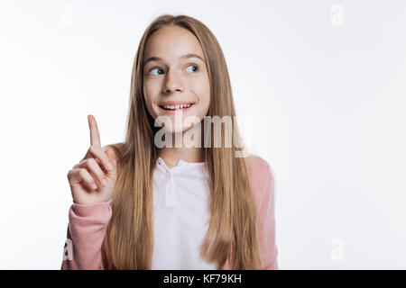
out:
M259 245L263 256L262 270L278 269L275 243L274 191L271 167L261 157L247 157L251 186L259 212ZM102 257L102 242L112 215L110 201L91 205L73 203L69 208L68 239L61 269L108 269ZM231 270L230 259L221 270Z

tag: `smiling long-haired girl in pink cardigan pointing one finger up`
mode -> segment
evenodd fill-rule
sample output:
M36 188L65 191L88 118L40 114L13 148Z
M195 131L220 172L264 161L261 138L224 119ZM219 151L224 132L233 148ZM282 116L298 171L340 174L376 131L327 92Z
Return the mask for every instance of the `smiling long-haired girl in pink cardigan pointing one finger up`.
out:
M277 269L271 168L261 157L235 157L234 142L213 145L203 121L229 116L236 127L226 60L203 23L165 14L149 25L128 116L125 142L103 148L88 116L90 148L68 173L61 268ZM196 125L177 124L179 116ZM191 133L198 145L161 145Z

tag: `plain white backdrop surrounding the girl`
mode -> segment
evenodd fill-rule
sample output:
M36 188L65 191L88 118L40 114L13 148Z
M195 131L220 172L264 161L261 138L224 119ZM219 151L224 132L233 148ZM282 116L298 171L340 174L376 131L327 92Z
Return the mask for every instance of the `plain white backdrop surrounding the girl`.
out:
M123 141L143 31L188 14L219 41L272 166L281 269L406 268L403 1L0 2L0 268L60 269L67 174ZM249 136L248 136L249 135Z

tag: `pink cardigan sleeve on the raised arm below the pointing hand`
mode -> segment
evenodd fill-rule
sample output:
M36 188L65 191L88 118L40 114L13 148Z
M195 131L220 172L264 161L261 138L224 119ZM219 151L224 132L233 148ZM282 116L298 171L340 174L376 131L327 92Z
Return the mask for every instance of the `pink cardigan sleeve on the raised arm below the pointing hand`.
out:
M61 270L107 269L102 243L112 215L110 203L111 200L89 205L74 202L70 206Z

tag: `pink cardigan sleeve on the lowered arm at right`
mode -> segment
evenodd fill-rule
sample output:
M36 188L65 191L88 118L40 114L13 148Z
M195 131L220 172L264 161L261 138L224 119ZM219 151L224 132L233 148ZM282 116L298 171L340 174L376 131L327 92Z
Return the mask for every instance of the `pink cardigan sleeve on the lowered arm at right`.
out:
M278 269L275 242L274 180L271 166L261 157L254 160L254 193L258 208L258 232L263 266L261 270Z

